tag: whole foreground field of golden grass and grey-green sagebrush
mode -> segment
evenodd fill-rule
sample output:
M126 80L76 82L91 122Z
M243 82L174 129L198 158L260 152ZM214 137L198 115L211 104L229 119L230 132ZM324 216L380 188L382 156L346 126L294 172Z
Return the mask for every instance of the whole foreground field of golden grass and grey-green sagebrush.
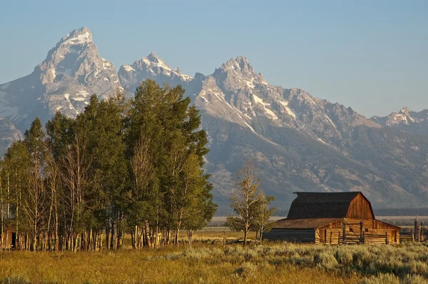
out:
M220 229L220 230L219 230ZM205 228L187 245L117 252L0 252L0 283L428 283L428 247L225 245Z

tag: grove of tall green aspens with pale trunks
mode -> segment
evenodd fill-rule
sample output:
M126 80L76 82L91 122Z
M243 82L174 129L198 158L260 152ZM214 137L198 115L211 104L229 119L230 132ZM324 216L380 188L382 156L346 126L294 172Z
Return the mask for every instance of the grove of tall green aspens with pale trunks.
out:
M158 247L180 230L191 243L217 206L207 135L184 93L146 80L131 99L93 95L45 128L36 118L1 161L0 248L116 250L125 234L133 248Z

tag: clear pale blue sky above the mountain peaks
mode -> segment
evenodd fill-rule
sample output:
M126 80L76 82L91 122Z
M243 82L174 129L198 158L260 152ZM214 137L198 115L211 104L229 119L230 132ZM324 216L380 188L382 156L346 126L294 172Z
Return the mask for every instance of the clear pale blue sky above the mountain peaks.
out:
M268 82L365 116L428 108L428 0L4 0L0 83L81 26L117 69L155 51L193 76L243 55Z

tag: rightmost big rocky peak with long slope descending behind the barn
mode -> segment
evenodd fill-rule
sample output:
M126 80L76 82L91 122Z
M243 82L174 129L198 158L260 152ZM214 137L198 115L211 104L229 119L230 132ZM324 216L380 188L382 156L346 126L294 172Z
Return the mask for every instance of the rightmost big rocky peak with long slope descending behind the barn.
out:
M422 206L428 198L425 136L382 127L298 88L271 86L242 56L195 76L189 87L210 136L208 171L225 203L248 156L279 208L294 191L363 191L377 207Z

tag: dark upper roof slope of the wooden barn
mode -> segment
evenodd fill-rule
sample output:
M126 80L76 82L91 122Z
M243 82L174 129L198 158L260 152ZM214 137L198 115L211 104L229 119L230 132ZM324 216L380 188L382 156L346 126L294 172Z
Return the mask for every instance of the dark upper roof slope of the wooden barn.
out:
M288 220L308 218L345 218L351 201L360 191L337 193L297 192Z

